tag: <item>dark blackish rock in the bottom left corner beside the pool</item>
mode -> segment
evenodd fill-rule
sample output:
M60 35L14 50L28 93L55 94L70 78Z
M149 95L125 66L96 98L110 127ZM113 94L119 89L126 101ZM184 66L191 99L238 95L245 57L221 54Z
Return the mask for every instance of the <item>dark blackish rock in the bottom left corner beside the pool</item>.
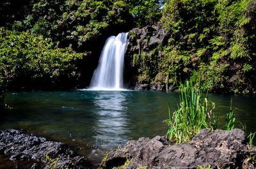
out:
M45 163L44 168L92 168L83 156L79 156L65 143L52 142L15 129L0 130L0 154L7 154L15 161ZM31 166L41 167L38 163Z

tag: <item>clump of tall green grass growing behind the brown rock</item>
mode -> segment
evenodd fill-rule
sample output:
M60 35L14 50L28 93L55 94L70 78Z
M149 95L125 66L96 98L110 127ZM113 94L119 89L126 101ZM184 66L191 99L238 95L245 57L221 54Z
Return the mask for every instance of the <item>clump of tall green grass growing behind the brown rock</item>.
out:
M212 112L215 104L202 98L202 91L195 87L192 82L186 81L180 84L180 105L172 114L168 108L169 119L165 122L169 129L168 138L173 142L189 142L201 129L216 129L216 118Z

